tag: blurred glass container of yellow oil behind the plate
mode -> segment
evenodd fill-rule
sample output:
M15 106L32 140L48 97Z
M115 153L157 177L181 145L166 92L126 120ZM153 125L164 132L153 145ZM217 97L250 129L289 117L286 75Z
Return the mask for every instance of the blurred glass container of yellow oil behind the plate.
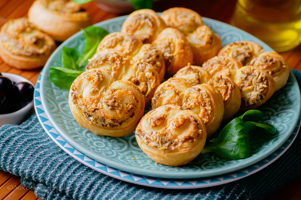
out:
M237 0L231 25L277 52L290 50L301 42L301 0Z

